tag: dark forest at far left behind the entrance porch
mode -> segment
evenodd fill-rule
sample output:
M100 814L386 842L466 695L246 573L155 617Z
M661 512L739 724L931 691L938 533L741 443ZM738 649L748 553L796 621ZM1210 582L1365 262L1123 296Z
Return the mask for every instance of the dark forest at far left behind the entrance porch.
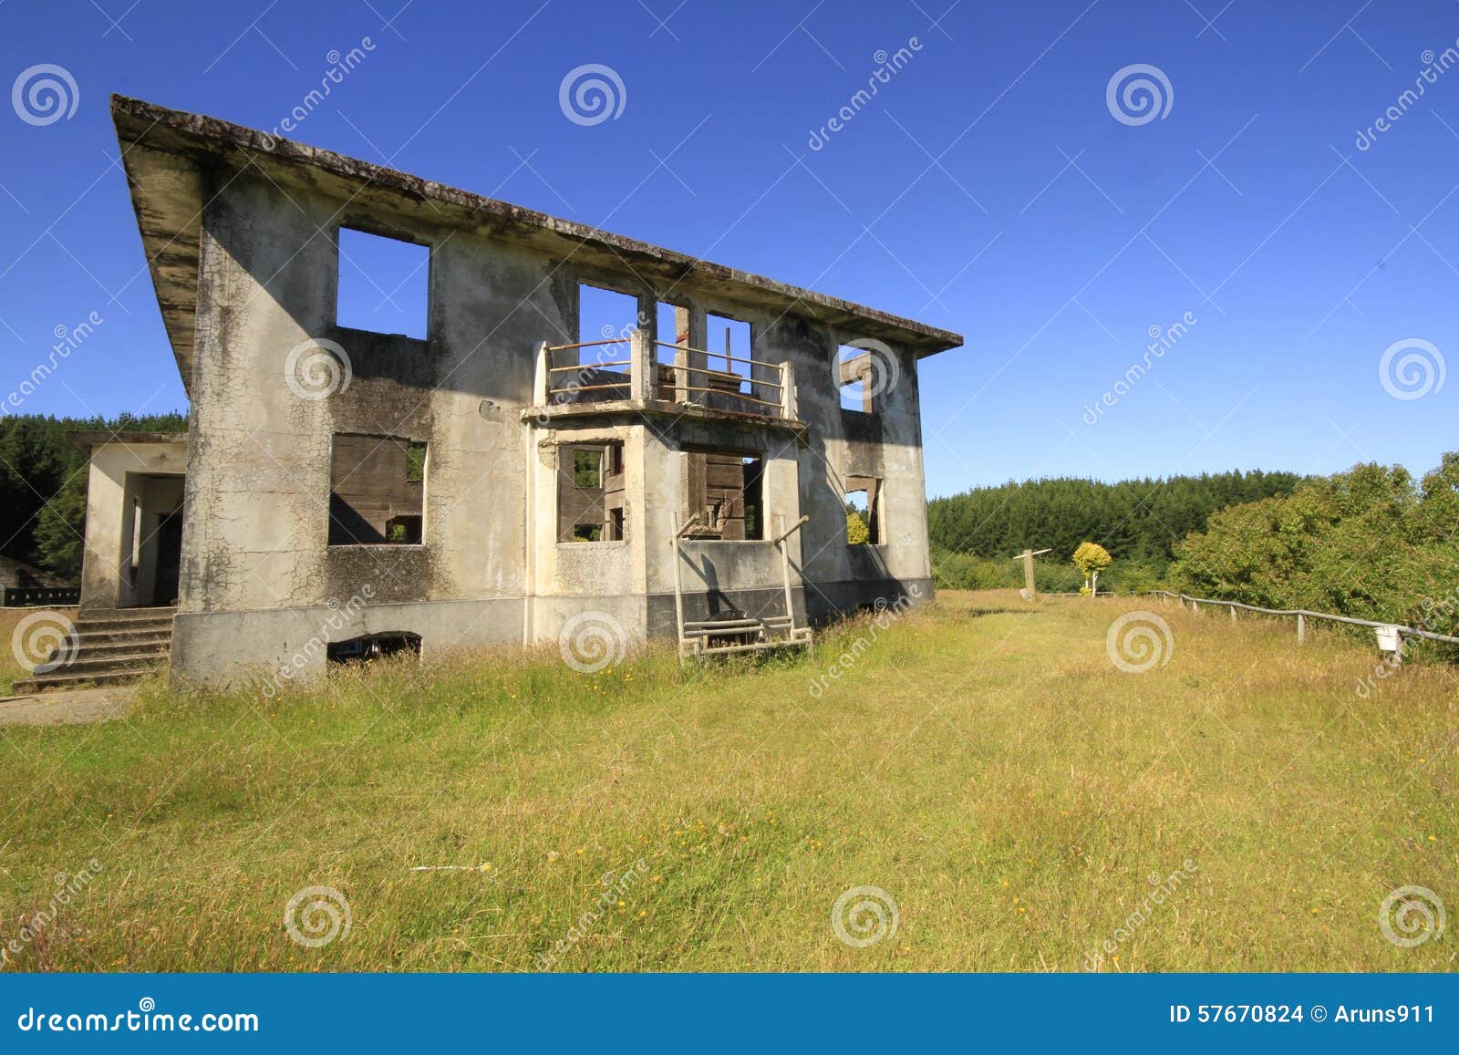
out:
M181 413L133 417L0 417L0 553L79 582L89 451L67 432L185 432Z

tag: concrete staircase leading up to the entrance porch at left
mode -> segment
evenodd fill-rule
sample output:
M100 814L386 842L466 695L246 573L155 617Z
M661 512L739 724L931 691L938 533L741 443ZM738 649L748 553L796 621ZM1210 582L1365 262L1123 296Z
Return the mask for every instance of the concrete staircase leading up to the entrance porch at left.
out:
M124 684L166 670L177 608L89 608L76 617L80 646L70 662L15 683L18 696L42 689Z

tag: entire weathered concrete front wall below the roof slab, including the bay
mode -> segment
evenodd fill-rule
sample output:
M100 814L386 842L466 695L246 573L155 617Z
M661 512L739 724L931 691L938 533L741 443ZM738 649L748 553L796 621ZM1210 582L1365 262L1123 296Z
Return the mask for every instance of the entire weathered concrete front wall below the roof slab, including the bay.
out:
M340 225L432 247L426 340L337 325ZM878 413L846 414L836 346L856 334L676 295L696 343L712 311L750 322L756 358L794 366L804 435L635 416L524 422L538 344L576 339L579 280L639 296L642 322L654 328L654 292L630 274L589 271L522 241L438 228L419 215L363 215L325 190L286 196L248 171L214 172L201 231L174 668L214 677L287 664L321 636L327 613L366 587L363 613L344 629L328 626L328 641L409 630L429 655L457 642L552 639L588 608L611 613L630 636L665 632L681 451L694 447L763 457L766 540L686 544L690 617L783 611L782 563L769 538L801 514L811 522L788 543L800 617L926 582L910 353L897 353L899 382ZM321 387L309 375L314 341L343 349L347 376ZM775 397L773 388L757 391ZM334 433L427 444L422 544L327 544ZM622 541L557 541L557 449L584 442L623 444ZM883 482L878 546L845 543L849 476ZM311 655L305 668L317 665Z

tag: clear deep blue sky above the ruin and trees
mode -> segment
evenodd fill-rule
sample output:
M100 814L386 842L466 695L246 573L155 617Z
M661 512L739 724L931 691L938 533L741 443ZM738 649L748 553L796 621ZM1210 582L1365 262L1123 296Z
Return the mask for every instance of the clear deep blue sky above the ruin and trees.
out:
M403 3L3 3L0 88L54 64L76 105L0 108L0 390L96 312L20 409L184 407L107 96L273 128L369 38L293 139L964 334L922 365L931 495L1459 448L1452 0ZM623 92L585 125L589 63ZM1110 108L1134 64L1161 117Z

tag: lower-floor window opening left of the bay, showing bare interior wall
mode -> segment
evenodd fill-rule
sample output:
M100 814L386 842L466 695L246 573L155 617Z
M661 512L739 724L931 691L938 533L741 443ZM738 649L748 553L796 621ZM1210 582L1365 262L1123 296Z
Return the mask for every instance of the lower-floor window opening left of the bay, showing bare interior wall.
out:
M328 544L420 546L426 465L426 444L334 433Z

